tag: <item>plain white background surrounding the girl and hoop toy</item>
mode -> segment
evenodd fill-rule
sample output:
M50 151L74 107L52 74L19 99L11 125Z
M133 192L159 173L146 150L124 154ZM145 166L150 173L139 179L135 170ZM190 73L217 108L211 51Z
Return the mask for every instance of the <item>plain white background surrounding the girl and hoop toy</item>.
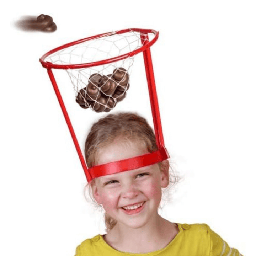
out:
M83 240L104 233L101 214L83 196L85 176L39 58L64 43L138 27L160 32L151 54L162 127L183 176L162 215L207 223L231 247L253 255L255 1L24 0L7 6L1 15L0 254L70 256ZM58 30L13 26L23 15L39 14L51 15ZM68 82L64 71L63 77Z

